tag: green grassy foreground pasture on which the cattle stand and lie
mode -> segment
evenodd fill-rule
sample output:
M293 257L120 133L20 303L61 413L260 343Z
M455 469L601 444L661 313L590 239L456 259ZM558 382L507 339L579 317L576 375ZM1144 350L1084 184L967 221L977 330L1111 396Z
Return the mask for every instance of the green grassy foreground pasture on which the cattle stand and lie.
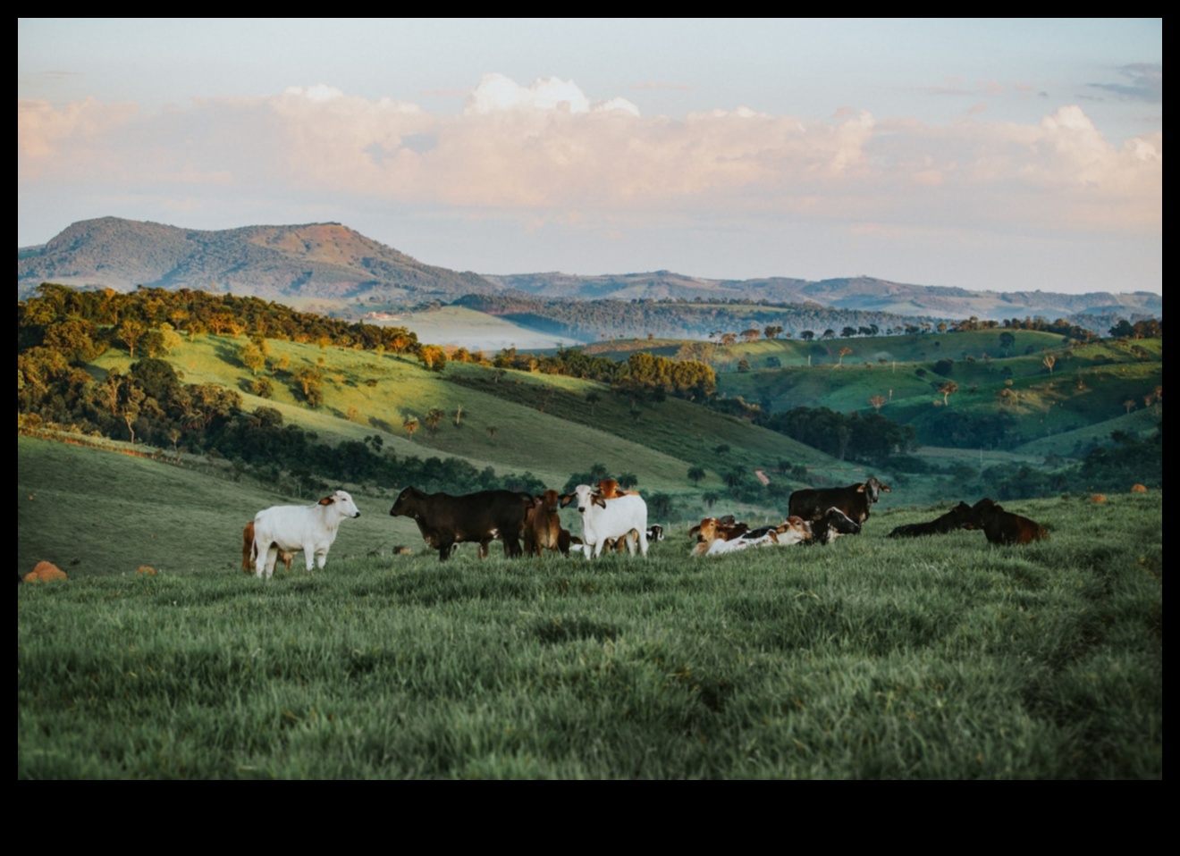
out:
M1163 775L1159 492L1005 503L1025 547L893 541L946 509L894 505L830 547L446 564L354 492L324 571L262 582L241 527L284 498L18 462L18 569L76 559L18 586L19 779Z

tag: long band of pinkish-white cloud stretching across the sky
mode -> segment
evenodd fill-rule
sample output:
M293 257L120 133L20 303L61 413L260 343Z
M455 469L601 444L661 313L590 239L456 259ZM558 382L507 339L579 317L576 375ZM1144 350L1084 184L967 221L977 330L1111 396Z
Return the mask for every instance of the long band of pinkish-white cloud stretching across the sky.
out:
M1112 145L1077 106L1035 125L856 108L826 120L746 107L670 119L592 101L570 80L500 74L453 116L324 85L153 116L92 99L18 103L19 190L71 182L185 205L204 187L243 204L352 198L588 228L807 218L1158 232L1162 152L1161 133Z

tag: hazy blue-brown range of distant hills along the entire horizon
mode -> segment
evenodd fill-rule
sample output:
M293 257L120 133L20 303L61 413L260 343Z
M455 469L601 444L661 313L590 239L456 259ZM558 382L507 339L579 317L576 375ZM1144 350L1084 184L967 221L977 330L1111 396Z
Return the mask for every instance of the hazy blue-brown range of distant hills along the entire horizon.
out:
M182 229L101 217L74 223L42 246L18 248L18 297L42 282L76 288L136 285L230 291L291 302L358 301L374 309L450 303L464 295L506 294L545 301L780 303L926 318L1001 321L1044 316L1104 332L1114 318L1163 317L1161 295L969 291L847 277L706 279L667 270L573 276L559 272L480 276L435 268L339 223ZM853 323L853 322L845 322ZM843 325L843 324L841 324ZM653 329L647 323L644 329Z

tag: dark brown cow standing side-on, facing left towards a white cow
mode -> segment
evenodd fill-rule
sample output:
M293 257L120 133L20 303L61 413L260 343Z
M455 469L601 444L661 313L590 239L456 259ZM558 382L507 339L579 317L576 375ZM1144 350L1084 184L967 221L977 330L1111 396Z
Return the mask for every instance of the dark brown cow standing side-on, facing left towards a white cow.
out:
M504 541L504 555L516 558L520 555L520 534L531 503L532 496L513 490L452 496L407 487L394 500L389 514L413 519L426 546L439 552L439 561L446 561L461 541L477 542L479 557L484 558L487 545L496 539Z

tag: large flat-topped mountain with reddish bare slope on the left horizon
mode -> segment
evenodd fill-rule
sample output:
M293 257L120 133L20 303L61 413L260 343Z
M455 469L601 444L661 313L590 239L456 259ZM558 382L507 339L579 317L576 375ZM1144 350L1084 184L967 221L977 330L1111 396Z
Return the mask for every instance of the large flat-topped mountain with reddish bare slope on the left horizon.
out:
M42 246L18 250L18 296L42 282L381 303L496 290L476 274L422 264L339 223L201 231L118 217L81 220Z

